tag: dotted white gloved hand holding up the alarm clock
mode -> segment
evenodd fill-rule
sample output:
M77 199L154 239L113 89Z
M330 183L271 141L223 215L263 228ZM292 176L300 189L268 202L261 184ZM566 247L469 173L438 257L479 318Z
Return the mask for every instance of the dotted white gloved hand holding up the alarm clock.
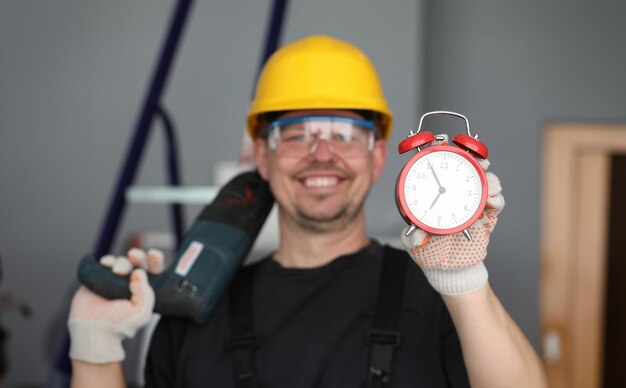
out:
M486 171L489 161L478 157L477 160ZM498 213L504 207L504 197L498 177L491 172L486 176L487 203L481 217L469 227L471 241L462 232L444 236L416 229L407 237L409 226L402 231L400 238L407 252L431 286L442 295L466 294L487 283L488 273L483 261L487 257L489 237L498 222Z

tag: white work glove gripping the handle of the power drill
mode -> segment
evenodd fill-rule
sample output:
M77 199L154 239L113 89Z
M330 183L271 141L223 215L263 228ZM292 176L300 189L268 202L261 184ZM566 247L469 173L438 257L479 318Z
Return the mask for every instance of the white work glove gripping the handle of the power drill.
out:
M100 263L117 275L130 276L131 298L109 300L81 286L70 307L67 322L71 347L70 358L94 364L121 362L125 352L122 341L134 337L150 321L154 308L154 291L145 269L159 274L163 270L163 253L131 249L127 257L104 256ZM133 270L133 267L138 267Z

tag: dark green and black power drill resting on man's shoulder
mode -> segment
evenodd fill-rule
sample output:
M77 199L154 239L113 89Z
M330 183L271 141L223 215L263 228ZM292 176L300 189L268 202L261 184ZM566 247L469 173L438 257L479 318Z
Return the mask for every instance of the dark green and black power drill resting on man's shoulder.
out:
M206 322L248 256L273 204L267 182L256 171L226 183L185 233L168 269L148 275L156 296L154 311ZM115 275L93 254L81 260L78 279L105 298L130 298L130 276Z

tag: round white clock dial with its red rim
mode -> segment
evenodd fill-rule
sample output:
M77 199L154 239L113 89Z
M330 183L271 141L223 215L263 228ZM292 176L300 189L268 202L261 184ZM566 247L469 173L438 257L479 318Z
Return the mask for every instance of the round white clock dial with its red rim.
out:
M402 170L396 190L405 219L439 234L469 227L487 198L478 162L452 146L430 147L416 154Z

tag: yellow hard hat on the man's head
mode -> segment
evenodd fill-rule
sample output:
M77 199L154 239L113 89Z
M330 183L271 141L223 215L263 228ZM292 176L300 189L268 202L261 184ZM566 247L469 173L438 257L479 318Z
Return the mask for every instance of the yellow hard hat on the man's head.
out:
M248 111L248 133L259 136L264 113L302 109L373 111L382 137L391 134L393 116L376 69L358 47L331 36L297 40L268 59Z

